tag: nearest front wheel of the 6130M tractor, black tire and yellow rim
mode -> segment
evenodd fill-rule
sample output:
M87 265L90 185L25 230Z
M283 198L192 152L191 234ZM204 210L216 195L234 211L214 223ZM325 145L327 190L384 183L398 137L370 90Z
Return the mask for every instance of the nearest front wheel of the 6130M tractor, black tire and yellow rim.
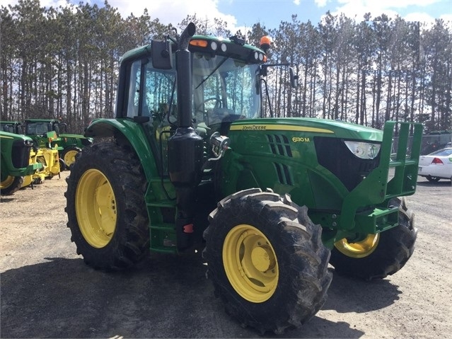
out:
M330 251L306 211L288 197L250 189L221 200L209 215L207 276L226 313L244 326L281 334L323 306Z

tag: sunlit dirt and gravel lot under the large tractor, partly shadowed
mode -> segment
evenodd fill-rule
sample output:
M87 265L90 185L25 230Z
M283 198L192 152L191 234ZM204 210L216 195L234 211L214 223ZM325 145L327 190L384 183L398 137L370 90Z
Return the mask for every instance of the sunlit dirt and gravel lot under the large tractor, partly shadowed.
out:
M262 338L225 314L199 255L152 254L115 274L84 265L68 175L0 197L1 338ZM323 309L283 338L450 338L451 182L419 178L407 201L419 232L405 268L370 283L334 275Z

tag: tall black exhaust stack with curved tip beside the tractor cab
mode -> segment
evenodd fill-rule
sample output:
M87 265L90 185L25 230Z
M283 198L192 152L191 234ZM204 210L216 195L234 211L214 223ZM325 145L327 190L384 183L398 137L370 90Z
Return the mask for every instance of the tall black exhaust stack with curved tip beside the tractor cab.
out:
M178 127L168 140L168 170L175 186L178 216L176 233L178 249L190 247L195 216L195 190L201 182L203 142L192 127L192 67L188 51L190 38L195 35L190 23L180 35L176 54L178 71Z

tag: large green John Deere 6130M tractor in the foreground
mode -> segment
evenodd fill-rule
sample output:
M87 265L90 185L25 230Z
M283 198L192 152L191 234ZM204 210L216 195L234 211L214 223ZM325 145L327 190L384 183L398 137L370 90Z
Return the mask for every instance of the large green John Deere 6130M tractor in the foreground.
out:
M328 264L372 280L412 255L403 196L415 193L422 125L386 122L382 132L265 115L268 68L298 80L291 65L266 64L268 46L195 35L190 23L179 38L125 53L116 117L87 127L105 139L74 163L66 213L92 268L202 250L227 313L284 333L323 306Z

